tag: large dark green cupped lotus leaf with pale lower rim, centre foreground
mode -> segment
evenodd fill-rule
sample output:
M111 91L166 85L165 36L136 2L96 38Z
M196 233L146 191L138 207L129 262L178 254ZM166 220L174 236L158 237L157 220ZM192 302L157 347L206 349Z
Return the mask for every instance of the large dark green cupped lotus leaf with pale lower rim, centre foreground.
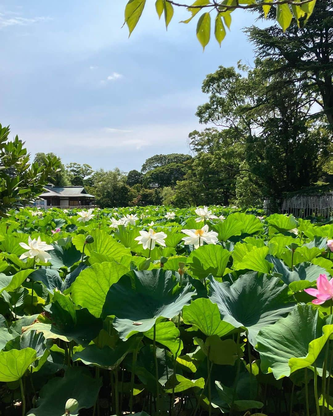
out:
M114 326L126 339L148 331L159 317L175 317L194 295L191 284L178 287L171 270L133 270L110 287L103 316L115 315Z

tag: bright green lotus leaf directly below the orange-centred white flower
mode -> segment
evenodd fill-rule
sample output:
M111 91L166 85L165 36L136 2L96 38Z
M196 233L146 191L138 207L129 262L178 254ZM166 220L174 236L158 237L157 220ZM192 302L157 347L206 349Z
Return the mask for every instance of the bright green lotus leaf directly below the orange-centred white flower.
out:
M212 274L222 277L230 258L230 252L221 245L206 244L193 250L187 259L194 276L199 278Z

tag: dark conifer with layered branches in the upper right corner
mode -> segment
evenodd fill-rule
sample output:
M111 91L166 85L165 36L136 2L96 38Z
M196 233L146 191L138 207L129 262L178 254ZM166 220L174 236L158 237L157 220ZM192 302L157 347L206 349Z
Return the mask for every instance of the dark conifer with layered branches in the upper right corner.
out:
M272 13L268 17L274 19ZM305 27L293 21L284 33L277 25L266 29L253 26L247 33L258 57L281 62L279 72L289 74L284 84L296 82L304 100L308 91L318 91L309 102L316 104L316 114L311 116L326 114L333 130L333 1L318 1Z

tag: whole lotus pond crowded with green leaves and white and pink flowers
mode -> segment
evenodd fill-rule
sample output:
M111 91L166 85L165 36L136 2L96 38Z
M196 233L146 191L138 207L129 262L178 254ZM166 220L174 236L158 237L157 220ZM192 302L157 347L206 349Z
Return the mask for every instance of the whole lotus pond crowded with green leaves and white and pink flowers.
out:
M332 238L220 206L11 211L0 414L330 414Z

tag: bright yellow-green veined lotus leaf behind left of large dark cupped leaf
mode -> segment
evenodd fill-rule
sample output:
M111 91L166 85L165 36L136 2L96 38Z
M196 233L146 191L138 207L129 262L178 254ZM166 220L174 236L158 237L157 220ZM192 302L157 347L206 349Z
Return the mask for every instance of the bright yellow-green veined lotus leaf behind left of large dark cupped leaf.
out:
M108 290L127 272L127 267L116 262L93 264L83 270L71 286L73 302L100 317Z

